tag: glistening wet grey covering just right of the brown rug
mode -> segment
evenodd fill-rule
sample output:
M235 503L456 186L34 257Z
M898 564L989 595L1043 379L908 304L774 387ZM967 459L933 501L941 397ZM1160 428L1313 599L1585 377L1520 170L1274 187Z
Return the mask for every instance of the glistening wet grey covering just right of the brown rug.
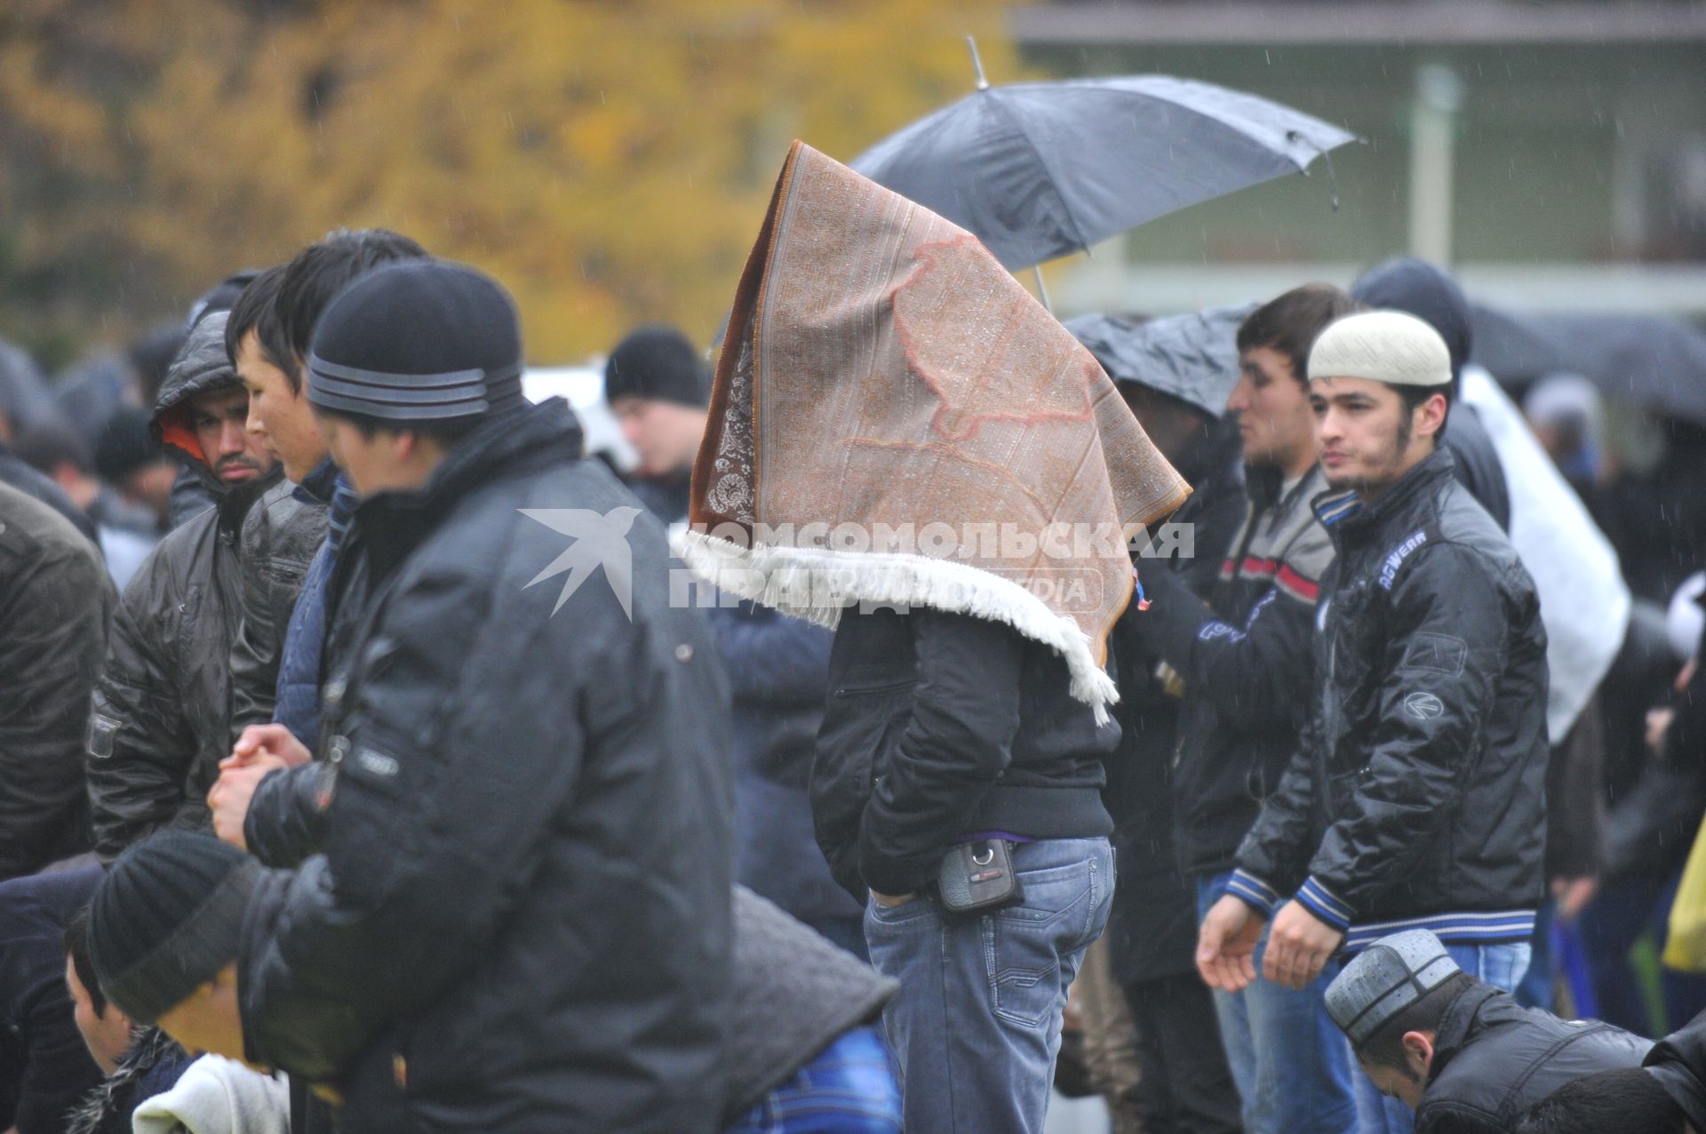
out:
M1078 315L1065 326L1090 348L1114 382L1146 385L1220 418L1239 384L1239 324L1256 307L1211 307L1146 322Z

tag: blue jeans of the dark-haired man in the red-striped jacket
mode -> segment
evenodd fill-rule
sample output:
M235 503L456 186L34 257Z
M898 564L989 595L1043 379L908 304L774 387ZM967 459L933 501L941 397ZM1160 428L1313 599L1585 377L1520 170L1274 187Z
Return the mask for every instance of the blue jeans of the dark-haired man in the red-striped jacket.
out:
M1198 912L1220 900L1223 875L1199 877ZM1351 1049L1327 1016L1322 1001L1339 965L1307 989L1288 989L1261 975L1268 933L1256 946L1256 984L1242 992L1215 991L1220 1040L1227 1045L1232 1079L1244 1100L1247 1134L1355 1134L1356 1095L1351 1086Z

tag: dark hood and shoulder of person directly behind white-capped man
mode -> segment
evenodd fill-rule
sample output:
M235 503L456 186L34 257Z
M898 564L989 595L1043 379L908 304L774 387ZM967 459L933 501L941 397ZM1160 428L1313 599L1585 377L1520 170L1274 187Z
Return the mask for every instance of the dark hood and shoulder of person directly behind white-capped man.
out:
M1457 280L1421 259L1389 259L1351 285L1351 298L1368 307L1409 312L1431 324L1445 339L1445 348L1452 353L1454 401L1445 423L1445 447L1455 460L1452 469L1459 484L1508 532L1510 489L1505 486L1505 466L1476 408L1457 401L1464 363L1474 346L1469 300Z

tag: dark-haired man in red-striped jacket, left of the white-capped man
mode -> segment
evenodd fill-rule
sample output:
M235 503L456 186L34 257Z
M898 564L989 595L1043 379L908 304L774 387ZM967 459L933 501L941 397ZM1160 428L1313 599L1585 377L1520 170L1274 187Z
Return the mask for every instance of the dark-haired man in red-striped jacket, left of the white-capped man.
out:
M1227 408L1244 443L1244 524L1208 602L1179 573L1143 571L1152 605L1140 638L1184 680L1174 808L1198 917L1232 885L1239 841L1278 786L1303 723L1315 595L1332 561L1310 512L1327 481L1305 367L1320 331L1355 307L1339 288L1312 283L1239 326L1240 375ZM1216 991L1250 1134L1355 1129L1351 1066L1320 1008L1324 987L1262 981Z

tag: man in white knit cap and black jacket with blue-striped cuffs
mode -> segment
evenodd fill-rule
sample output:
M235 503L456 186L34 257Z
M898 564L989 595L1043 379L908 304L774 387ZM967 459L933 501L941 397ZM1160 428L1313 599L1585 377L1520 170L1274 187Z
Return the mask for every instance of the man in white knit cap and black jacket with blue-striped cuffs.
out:
M1310 721L1203 921L1215 987L1300 987L1344 952L1430 929L1467 974L1529 967L1546 842L1546 631L1529 573L1438 448L1450 353L1413 315L1339 319L1309 356L1338 558ZM1288 900L1290 899L1290 900ZM1360 1076L1365 1134L1411 1114Z

